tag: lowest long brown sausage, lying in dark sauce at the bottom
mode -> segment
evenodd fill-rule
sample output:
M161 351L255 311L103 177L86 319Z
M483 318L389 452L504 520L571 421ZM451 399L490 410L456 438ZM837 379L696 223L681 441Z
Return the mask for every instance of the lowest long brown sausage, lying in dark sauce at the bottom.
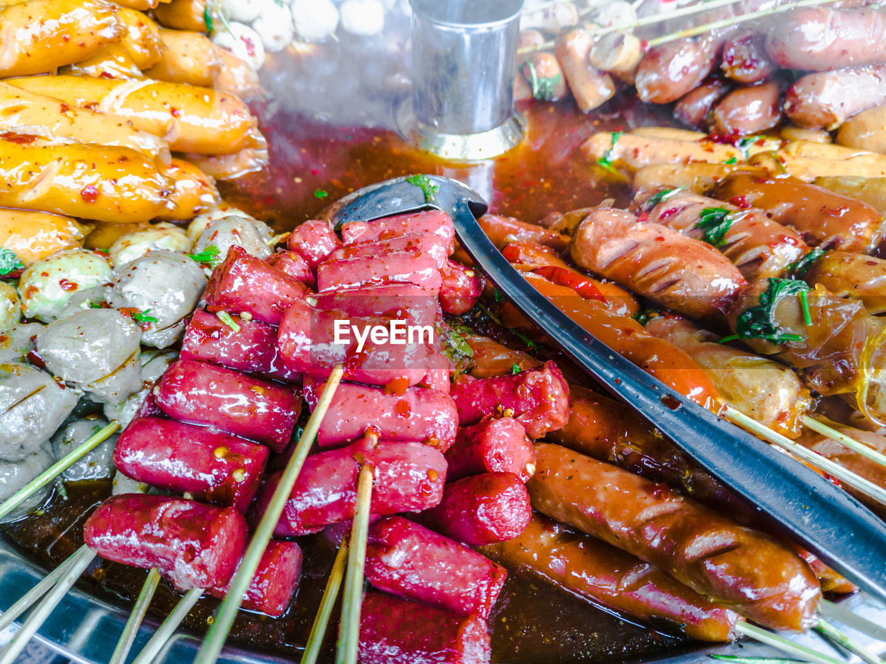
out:
M657 628L664 624L668 631L700 641L735 637L734 611L711 604L656 566L539 514L514 539L478 551Z

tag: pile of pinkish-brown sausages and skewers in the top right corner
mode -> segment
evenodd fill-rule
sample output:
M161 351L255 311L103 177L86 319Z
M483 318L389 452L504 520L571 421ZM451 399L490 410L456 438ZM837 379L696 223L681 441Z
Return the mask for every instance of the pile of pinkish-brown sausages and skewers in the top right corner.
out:
M748 136L772 129L787 116L798 128L840 128L837 140L842 145L882 149L886 52L868 46L882 41L886 13L879 6L849 1L797 8L649 49L643 46L645 39L783 4L753 0L667 19L671 6L648 0L639 13L659 13L659 25L602 36L596 36L601 28L636 18L630 4L608 4L584 27L578 26L579 14L570 11L571 3L555 4L542 21L554 37L555 52L518 57L517 99L533 93L536 98L561 98L571 92L587 112L633 86L642 101L673 103L678 121L712 134ZM532 51L546 43L539 31L529 29L521 35L521 45ZM539 85L539 80L548 84Z

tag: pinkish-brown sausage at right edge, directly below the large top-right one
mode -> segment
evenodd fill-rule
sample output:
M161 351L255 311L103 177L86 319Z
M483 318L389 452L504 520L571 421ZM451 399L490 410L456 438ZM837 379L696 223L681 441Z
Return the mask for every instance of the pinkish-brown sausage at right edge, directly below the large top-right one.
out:
M800 127L830 130L855 113L882 104L886 104L886 65L870 65L806 74L790 86L784 110Z

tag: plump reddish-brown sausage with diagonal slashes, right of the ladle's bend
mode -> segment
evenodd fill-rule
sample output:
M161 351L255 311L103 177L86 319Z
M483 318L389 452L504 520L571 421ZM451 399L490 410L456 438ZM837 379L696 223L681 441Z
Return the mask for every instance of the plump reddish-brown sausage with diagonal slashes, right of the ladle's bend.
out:
M691 318L726 311L747 282L723 254L628 212L589 213L570 243L579 266Z

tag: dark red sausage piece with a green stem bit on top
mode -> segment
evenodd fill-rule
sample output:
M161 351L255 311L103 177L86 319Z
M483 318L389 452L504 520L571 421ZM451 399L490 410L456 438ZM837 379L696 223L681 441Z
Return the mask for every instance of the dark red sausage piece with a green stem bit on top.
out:
M253 320L235 319L239 330L222 323L203 309L194 311L182 340L183 360L201 360L223 367L290 382L299 381L279 354L276 327Z

